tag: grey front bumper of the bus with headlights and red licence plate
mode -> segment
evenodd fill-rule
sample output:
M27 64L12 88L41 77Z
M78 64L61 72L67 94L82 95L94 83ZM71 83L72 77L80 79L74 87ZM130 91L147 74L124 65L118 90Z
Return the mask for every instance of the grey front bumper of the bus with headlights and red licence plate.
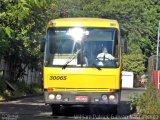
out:
M117 92L44 92L46 104L119 104Z

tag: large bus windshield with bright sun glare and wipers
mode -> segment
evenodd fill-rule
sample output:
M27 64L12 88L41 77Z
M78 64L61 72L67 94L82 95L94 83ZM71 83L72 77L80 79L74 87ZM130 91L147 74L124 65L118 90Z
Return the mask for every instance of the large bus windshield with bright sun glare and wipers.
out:
M46 65L118 67L118 31L114 28L49 28Z

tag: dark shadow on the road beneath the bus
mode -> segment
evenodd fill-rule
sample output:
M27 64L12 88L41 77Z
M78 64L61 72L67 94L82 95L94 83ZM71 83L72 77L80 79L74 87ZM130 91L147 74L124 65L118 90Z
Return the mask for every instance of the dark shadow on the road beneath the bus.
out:
M115 114L112 108L107 106L72 106L61 107L61 113L51 116L54 119L110 119L122 118L133 114L135 111L130 109L127 101L121 101L118 107L118 113ZM42 116L41 116L42 117Z

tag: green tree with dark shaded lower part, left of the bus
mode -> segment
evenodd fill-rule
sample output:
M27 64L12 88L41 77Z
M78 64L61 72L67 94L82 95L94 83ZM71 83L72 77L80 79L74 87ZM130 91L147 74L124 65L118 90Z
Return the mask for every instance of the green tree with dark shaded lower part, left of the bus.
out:
M0 56L9 65L9 79L23 76L26 66L40 65L39 39L52 17L51 0L5 0L0 9ZM53 1L52 1L53 2Z

